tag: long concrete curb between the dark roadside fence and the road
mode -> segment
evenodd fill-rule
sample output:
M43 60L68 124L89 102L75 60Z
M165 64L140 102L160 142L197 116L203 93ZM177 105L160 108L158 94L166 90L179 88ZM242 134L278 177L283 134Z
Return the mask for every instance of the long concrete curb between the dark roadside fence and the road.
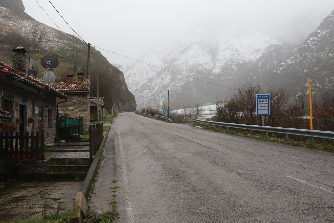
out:
M93 181L94 181L94 177L95 177L95 173L96 173L96 170L98 168L98 165L99 165L99 161L100 161L100 157L101 157L101 153L102 153L102 150L105 146L105 143L106 143L106 139L107 139L107 136L108 136L108 133L110 131L110 128L109 130L107 131L105 137L103 137L103 140L101 142L101 145L99 147L99 150L97 151L96 155L95 155L95 158L91 164L91 167L89 168L89 171L87 173L87 176L85 178L85 181L83 182L82 186L81 186L81 189L80 189L80 192L83 193L83 195L85 196L86 200L88 198L88 193L89 193L89 190L90 188L92 187L92 184L93 184Z

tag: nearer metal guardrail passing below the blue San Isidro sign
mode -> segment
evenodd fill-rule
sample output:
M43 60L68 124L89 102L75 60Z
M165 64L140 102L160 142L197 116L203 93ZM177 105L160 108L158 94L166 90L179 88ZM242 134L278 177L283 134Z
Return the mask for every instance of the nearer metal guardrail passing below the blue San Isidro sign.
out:
M194 123L202 123L206 125L214 125L220 127L247 129L255 131L264 131L264 132L273 132L273 133L282 133L285 134L285 140L288 140L289 135L298 135L311 137L311 142L313 143L314 138L324 138L324 139L334 139L334 132L331 131L320 131L320 130L309 130L309 129L299 129L299 128L282 128L282 127L272 127L272 126L261 126L261 125L245 125L245 124L234 124L234 123L225 123L225 122L213 122L205 121L200 119L193 119Z

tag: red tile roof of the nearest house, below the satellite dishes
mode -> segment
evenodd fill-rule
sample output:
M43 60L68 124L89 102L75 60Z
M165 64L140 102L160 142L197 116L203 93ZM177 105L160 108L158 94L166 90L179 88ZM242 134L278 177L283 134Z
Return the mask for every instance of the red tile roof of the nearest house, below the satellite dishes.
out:
M22 73L20 71L15 70L12 66L6 64L5 62L0 60L0 71L4 72L6 75L10 75L12 77L20 77L25 78L27 75L25 73ZM23 81L23 83L31 85L33 87L36 87L38 89L48 90L47 84L44 81L38 80L36 78L33 78L29 76L26 80ZM57 96L58 98L65 99L67 96L59 91L57 91L55 88L50 86L51 94Z

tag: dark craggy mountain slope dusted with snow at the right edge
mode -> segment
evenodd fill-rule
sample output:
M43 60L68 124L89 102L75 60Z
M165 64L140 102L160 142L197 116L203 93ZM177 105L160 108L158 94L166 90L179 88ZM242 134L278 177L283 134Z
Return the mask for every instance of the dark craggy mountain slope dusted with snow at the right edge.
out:
M274 77L289 89L297 90L306 85L308 78L311 78L314 89L333 89L334 10L309 35L296 54L275 70Z

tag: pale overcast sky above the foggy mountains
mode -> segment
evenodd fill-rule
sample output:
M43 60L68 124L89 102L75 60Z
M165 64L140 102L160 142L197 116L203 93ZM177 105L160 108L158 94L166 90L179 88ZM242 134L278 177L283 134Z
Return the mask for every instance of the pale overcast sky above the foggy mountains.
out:
M22 0L37 21L74 32L48 0ZM80 37L92 45L142 60L148 51L172 47L188 39L255 30L279 41L295 43L305 20L315 28L334 10L334 0L50 0ZM304 23L303 23L304 21ZM312 25L311 25L312 26ZM100 50L110 63L131 60Z

